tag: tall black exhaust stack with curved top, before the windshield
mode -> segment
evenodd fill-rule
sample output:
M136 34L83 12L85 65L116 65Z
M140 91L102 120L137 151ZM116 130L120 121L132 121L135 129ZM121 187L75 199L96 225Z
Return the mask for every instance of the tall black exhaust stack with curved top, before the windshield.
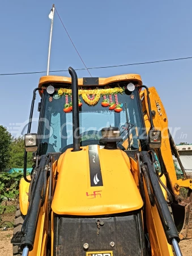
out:
M69 67L71 75L72 92L72 131L73 131L73 151L80 150L79 138L79 96L78 96L78 76L73 68Z

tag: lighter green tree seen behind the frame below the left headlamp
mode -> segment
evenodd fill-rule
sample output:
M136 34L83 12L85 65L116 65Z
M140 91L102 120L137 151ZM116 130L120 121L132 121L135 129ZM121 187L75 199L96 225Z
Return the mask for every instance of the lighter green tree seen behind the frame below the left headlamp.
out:
M23 157L24 157L24 139L23 137L13 138L11 142L11 156L9 161L10 168L23 168ZM32 152L27 154L27 168L31 168Z

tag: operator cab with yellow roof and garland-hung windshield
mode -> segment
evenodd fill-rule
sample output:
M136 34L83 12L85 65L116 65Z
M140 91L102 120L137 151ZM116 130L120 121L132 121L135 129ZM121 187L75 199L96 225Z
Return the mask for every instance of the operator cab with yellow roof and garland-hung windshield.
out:
M138 86L139 75L120 75L108 78L78 79L80 146L104 146L101 130L118 127L122 150L139 150L144 139L142 110ZM40 154L65 152L72 148L71 78L41 77Z

